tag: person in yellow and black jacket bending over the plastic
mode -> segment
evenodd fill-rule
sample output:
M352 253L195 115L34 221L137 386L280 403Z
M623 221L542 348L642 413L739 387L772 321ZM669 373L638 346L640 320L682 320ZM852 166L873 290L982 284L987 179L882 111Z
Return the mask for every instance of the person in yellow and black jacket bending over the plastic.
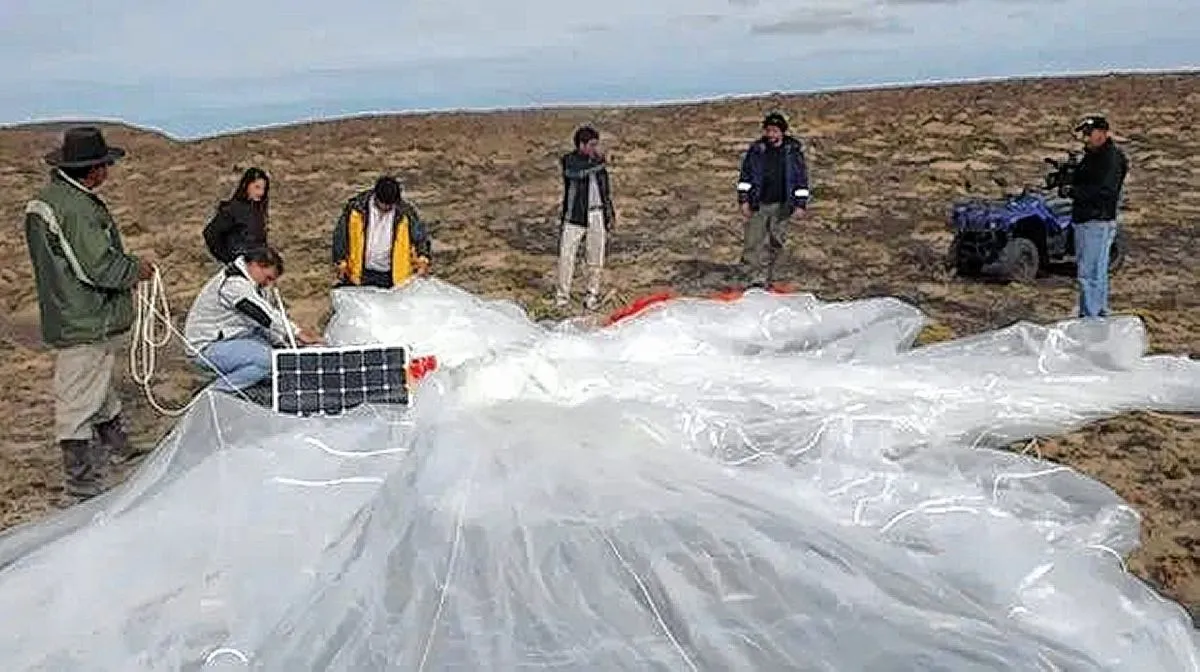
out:
M334 272L342 286L396 287L430 268L431 241L400 182L384 175L350 198L334 227Z

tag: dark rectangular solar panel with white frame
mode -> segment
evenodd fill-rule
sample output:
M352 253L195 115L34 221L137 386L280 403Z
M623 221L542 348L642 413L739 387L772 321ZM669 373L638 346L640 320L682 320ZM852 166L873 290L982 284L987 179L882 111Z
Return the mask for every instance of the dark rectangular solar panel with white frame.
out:
M362 403L408 403L408 353L401 347L344 346L272 353L276 413L337 415Z

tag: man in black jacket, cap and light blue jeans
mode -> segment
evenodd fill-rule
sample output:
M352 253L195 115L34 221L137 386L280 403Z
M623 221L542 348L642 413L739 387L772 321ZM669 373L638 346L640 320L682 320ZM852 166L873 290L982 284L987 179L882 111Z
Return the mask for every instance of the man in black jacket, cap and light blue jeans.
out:
M1117 232L1117 206L1129 162L1109 134L1109 121L1087 116L1075 127L1084 157L1072 179L1079 317L1109 314L1109 250Z

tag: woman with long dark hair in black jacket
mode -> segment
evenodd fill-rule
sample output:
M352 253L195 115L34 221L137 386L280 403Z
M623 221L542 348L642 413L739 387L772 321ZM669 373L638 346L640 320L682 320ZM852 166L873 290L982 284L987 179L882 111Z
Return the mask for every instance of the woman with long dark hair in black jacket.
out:
M204 227L209 252L228 264L245 250L266 246L266 208L271 180L260 168L248 168L241 175L229 200L217 205L217 212Z

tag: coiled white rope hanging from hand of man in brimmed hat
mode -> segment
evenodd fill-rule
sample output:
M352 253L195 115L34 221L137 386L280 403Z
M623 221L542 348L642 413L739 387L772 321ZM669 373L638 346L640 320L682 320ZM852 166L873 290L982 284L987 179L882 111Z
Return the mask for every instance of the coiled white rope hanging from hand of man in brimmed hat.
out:
M133 330L132 338L130 342L130 376L133 382L142 385L142 391L145 392L146 401L155 410L163 415L170 418L178 418L196 403L199 395L192 397L181 408L167 408L158 403L158 400L154 396L154 376L155 370L158 364L158 348L162 348L170 343L170 337L175 336L184 348L190 350L196 355L205 366L215 372L226 383L229 379L221 372L220 368L212 365L202 353L192 348L187 338L175 329L175 323L170 317L170 304L167 301L167 292L163 288L162 274L158 271L158 266L154 268L154 274L150 280L138 283L137 292L133 296ZM245 398L246 401L253 402L250 397L245 395L241 390L230 383L232 389L236 390L236 394Z

